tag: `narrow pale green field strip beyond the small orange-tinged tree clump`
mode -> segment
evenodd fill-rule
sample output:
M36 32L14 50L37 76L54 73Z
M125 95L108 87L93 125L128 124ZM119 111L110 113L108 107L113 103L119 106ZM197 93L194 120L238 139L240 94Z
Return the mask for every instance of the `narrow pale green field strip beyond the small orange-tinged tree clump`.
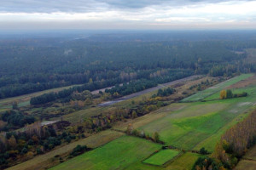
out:
M191 95L188 98L185 98L182 100L182 102L195 102L200 101L202 99L207 98L208 96L220 92L222 89L229 87L230 85L240 82L241 80L245 80L248 77L253 77L253 74L242 74L238 77L231 78L230 80L227 80L225 82L221 82L212 88L207 88L206 90L203 90L201 92L198 92L197 94Z

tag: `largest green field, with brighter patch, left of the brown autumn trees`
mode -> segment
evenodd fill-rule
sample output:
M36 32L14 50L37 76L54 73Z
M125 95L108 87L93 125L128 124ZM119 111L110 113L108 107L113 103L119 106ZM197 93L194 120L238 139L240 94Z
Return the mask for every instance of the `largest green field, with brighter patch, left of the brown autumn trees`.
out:
M206 147L212 151L221 134L253 107L256 96L186 104L179 111L139 127L145 133L160 133L166 144L185 150Z

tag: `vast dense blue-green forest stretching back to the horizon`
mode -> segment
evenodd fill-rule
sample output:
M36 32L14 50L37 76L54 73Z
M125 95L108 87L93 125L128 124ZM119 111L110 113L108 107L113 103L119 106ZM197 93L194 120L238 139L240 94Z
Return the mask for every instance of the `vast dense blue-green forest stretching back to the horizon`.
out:
M0 99L90 81L152 79L166 69L212 76L255 69L243 53L256 47L253 31L53 35L0 39Z

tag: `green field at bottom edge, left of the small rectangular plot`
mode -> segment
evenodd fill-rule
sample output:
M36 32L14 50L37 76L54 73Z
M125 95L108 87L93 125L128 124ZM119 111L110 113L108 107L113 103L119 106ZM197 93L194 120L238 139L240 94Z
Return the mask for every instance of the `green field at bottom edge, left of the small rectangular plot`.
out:
M65 169L133 169L133 166L143 161L148 155L160 149L160 144L154 144L145 139L123 136L104 146L77 156L69 161L51 168Z

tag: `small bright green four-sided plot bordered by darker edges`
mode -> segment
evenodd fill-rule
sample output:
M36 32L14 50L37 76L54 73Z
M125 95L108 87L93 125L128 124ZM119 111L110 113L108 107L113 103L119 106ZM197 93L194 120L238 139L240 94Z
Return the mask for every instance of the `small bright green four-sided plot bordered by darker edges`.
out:
M180 151L177 151L177 150L160 150L160 152L157 152L153 156L148 157L148 159L143 161L143 163L162 166L167 161L171 161L179 153Z

